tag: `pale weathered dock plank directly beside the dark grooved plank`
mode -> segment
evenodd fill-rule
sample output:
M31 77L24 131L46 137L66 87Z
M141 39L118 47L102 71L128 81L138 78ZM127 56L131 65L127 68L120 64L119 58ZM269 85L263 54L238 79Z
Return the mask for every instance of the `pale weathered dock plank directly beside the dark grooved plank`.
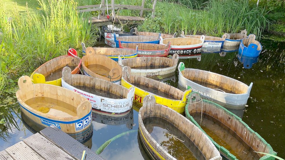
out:
M63 150L59 149L55 144L51 143L48 139L41 134L36 133L23 140L32 150L46 160L74 160Z

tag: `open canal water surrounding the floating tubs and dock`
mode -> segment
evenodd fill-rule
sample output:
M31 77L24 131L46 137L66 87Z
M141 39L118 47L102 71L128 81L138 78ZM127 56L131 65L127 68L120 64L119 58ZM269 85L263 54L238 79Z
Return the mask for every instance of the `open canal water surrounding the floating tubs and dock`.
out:
M181 59L179 62L184 62L185 68L212 71L248 85L253 82L246 108L231 111L242 117L250 128L271 144L279 157L285 158L285 42L266 37L261 40L263 51L258 59L238 58L237 52L224 52L202 54L201 61L193 58ZM164 82L177 87L177 69L175 77ZM12 90L17 90L17 85ZM1 102L0 119L4 118L8 123L0 124L0 151L39 130L33 123L22 121L14 94L2 95ZM24 119L28 121L27 118ZM138 108L134 107L132 112L121 117L97 113L93 114L93 119L92 128L82 135L72 137L81 139L82 143L96 151L112 137L134 130L112 141L100 155L105 159L150 159L136 131ZM169 147L171 150L171 146Z

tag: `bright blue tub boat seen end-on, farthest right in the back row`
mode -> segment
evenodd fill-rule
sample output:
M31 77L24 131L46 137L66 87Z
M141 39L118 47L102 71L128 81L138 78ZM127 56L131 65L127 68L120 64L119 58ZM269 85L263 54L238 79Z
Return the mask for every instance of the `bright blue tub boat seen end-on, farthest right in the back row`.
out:
M260 55L262 45L255 40L255 35L250 34L248 38L243 38L239 45L239 54L247 57L257 57Z

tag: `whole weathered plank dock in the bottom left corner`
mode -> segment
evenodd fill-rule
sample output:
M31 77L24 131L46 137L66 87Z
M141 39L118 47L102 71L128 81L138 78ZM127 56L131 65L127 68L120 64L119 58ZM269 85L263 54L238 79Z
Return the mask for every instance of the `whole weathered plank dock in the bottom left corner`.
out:
M47 127L0 152L0 160L104 160L92 150L59 130Z

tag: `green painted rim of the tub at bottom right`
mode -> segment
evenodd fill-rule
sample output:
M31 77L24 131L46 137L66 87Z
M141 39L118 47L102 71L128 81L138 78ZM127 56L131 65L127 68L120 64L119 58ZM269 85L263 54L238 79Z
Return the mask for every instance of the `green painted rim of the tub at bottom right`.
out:
M199 94L198 92L191 92L188 97L191 97L192 94L194 93L197 93ZM206 135L207 133L201 128L201 126L194 120L194 118L189 114L189 111L188 111L188 102L190 102L190 99L188 98L187 100L187 104L185 106L185 115L186 115L186 118L189 119L191 122L193 122L198 128L200 128L200 130L202 130ZM269 150L269 154L271 155L277 155L276 152L273 151L273 148L270 146L270 144L268 144L258 133L256 133L254 130L252 130L245 122L242 121L241 118L239 118L237 115L235 115L234 113L228 111L226 108L222 107L221 105L215 103L215 102L212 102L212 101L209 101L209 100L204 100L203 99L203 102L206 102L206 103L211 103L211 104L215 104L216 106L218 106L219 108L223 109L224 112L228 112L230 115L234 116L236 119L238 119L246 128L248 128L248 130L254 134L257 135L257 137L259 137L263 142L264 144L266 144L268 146L268 148L270 148ZM207 135L208 136L208 135ZM213 142L213 144L216 146L216 148L219 150L219 152L223 153L224 156L226 156L228 159L230 160L238 160L236 158L236 156L234 156L233 154L230 153L230 151L228 151L226 148L224 148L223 146L220 146L219 144L217 144L210 136L208 136L208 138ZM274 160L275 158L272 157L272 156L269 156L269 155L266 155L266 156L263 156L261 157L259 160Z

